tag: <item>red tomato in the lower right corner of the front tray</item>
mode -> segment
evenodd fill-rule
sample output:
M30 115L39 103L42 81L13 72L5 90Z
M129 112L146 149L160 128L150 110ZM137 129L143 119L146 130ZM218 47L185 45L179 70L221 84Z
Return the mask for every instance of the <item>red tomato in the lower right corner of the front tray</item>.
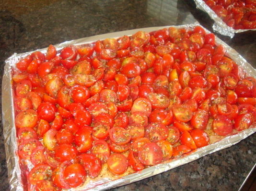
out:
M238 131L242 131L251 126L253 117L251 114L240 114L234 119L234 127Z

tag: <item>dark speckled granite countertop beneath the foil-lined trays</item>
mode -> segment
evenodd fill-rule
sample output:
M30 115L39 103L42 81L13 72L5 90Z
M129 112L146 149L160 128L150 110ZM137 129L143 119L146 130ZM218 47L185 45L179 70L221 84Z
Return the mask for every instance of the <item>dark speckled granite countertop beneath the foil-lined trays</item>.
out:
M12 53L129 29L213 21L193 0L1 0L0 72ZM218 35L256 67L256 33ZM256 134L181 167L111 191L238 191L256 162ZM0 128L0 190L9 191Z

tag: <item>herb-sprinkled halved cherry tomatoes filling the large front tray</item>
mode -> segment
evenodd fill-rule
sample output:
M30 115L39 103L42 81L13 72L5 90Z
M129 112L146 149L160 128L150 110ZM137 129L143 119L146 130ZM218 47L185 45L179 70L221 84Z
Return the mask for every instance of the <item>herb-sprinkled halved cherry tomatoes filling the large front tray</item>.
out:
M56 191L138 171L249 128L256 79L203 28L136 32L23 57L12 70L28 187ZM103 175L104 176L104 175Z

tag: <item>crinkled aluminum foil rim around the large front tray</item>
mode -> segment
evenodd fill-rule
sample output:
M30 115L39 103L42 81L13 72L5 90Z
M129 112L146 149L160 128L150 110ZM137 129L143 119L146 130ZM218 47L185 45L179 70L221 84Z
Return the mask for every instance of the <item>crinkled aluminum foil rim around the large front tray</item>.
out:
M194 24L187 24L187 25L180 25L180 26L173 26L173 27L192 29L197 25L199 25L198 22ZM78 40L63 42L55 45L55 47L57 50L60 50L69 44L79 45L83 43L94 42L97 40L103 40L105 38L117 38L123 35L131 35L138 31L152 32L152 31L156 31L156 30L168 28L168 27L171 27L171 26L141 28L141 29L135 29L135 30L129 30L129 31L101 34L101 35L81 38ZM209 33L208 30L206 30L206 32ZM249 63L247 63L246 60L239 55L239 53L237 53L234 49L228 46L225 42L222 42L218 37L216 37L216 43L224 45L227 50L227 55L230 56L237 64L243 66L243 68L249 75L256 77L256 70ZM36 51L41 51L42 53L46 53L47 48L39 49ZM35 51L32 51L32 52L35 52ZM6 161L7 161L7 168L8 168L8 177L9 177L9 183L11 185L11 191L26 190L23 188L23 185L22 185L22 178L24 177L24 174L21 172L21 168L19 166L19 157L16 155L17 140L16 140L16 130L14 126L14 109L13 109L14 107L13 107L13 92L12 92L12 86L11 86L11 79L12 79L11 68L12 66L15 65L15 63L20 58L32 52L20 53L20 54L14 53L11 57L9 57L5 61L4 74L2 79L3 133L4 133L4 144L5 144L5 151L6 151ZM158 164L158 165L149 167L147 169L141 170L140 172L132 173L130 175L124 176L119 179L111 180L109 178L103 178L102 180L98 180L94 182L91 181L80 188L70 189L70 191L104 191L110 188L115 188L118 186L129 184L131 182L142 180L142 179L151 177L153 175L162 173L164 171L173 169L180 165L186 164L193 160L199 159L210 153L230 147L255 132L256 132L256 125L254 124L252 128L246 129L237 134L223 138L220 141L210 144L204 148L197 149L191 152L189 155L185 155L179 159L172 159L168 163Z

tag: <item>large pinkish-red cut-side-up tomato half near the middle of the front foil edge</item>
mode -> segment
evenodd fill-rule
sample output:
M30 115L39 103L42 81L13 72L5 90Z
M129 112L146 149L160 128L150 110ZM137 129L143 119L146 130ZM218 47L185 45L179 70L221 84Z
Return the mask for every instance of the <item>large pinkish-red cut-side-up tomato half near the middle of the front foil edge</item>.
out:
M155 165L162 162L163 153L156 143L147 142L138 153L139 160L144 165Z

